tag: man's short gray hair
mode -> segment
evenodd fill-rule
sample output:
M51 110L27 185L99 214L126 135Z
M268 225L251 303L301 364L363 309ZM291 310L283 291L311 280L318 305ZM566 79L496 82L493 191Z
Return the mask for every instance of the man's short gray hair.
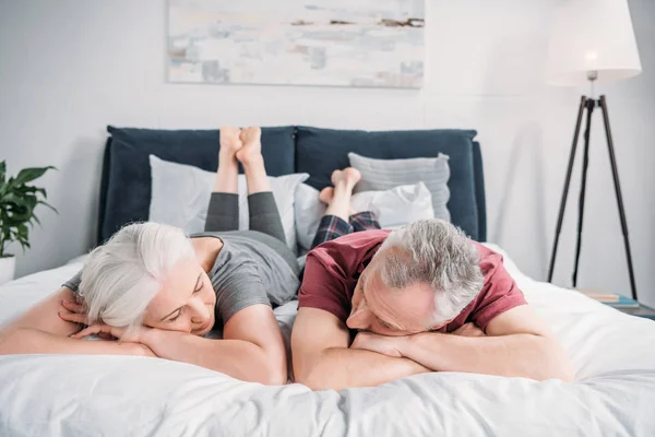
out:
M414 222L392 232L374 257L390 288L428 283L434 292L431 326L456 317L480 292L484 276L473 241L439 218Z

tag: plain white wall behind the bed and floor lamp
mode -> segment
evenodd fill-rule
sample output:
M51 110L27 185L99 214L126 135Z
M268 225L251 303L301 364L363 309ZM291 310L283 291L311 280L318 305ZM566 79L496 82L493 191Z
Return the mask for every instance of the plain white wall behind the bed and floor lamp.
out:
M95 235L105 126L475 128L489 239L544 279L581 93L544 84L548 25L561 0L428 0L427 84L403 90L174 85L165 82L164 0L0 0L0 158L55 165L19 274L53 268ZM655 306L655 2L630 0L644 73L600 88L611 127L642 300ZM580 284L628 294L602 131L592 132ZM577 162L580 164L580 161ZM576 165L576 169L579 169ZM556 280L568 284L579 172ZM17 248L15 248L16 251Z

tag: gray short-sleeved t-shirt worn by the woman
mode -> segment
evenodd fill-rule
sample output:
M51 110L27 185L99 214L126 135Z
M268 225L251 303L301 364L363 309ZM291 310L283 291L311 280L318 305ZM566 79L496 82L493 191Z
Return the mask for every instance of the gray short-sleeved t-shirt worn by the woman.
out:
M219 318L225 324L252 305L282 305L298 292L298 264L276 238L255 231L205 232L190 237L216 237L223 241L214 267L207 272L216 292L216 321ZM63 286L78 293L81 273Z

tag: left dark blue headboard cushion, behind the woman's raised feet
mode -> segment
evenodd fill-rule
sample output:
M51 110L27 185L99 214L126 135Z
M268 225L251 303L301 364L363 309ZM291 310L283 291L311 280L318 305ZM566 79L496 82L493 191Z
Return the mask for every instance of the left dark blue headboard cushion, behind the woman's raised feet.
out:
M219 132L107 127L100 180L97 243L127 223L147 220L151 201L148 155L216 170ZM271 176L295 173L294 127L262 128L262 156Z

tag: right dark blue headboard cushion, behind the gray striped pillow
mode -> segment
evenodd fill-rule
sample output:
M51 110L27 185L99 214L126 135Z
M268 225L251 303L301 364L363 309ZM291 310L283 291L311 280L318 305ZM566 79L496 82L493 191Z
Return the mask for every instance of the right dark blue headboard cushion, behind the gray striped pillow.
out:
M486 237L485 182L475 130L362 131L296 127L296 172L309 173L317 190L332 185L332 172L349 165L348 153L378 160L449 157L451 222L476 240ZM409 184L409 182L404 182ZM402 184L397 184L402 185ZM434 200L433 200L434 201Z

